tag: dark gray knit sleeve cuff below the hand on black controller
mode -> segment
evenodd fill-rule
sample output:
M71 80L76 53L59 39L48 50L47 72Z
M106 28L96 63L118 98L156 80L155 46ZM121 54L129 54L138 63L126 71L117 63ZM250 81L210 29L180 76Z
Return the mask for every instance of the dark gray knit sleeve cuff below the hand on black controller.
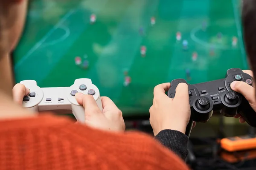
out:
M188 155L188 137L177 130L162 130L155 136L163 146L172 150L184 161Z

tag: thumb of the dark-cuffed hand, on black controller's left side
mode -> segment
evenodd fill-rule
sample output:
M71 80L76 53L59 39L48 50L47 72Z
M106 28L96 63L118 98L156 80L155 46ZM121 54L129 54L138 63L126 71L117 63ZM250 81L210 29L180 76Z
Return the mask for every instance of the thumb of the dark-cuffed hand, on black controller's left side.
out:
M178 84L174 97L175 100L189 101L189 87L186 83Z

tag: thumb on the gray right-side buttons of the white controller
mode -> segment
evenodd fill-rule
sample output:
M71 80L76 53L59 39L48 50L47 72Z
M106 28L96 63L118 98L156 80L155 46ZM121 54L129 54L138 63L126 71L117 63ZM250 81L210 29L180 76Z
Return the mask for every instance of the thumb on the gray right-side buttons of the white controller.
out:
M79 105L82 105L84 107L84 112L86 115L102 113L99 110L99 107L92 95L77 93L76 101L78 102Z

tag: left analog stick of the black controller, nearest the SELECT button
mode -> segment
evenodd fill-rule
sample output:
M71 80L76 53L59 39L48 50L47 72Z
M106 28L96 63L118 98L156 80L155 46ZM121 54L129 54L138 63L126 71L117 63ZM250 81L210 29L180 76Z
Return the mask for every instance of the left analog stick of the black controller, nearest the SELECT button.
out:
M196 122L207 122L212 116L213 103L207 97L199 97L193 103L193 120Z

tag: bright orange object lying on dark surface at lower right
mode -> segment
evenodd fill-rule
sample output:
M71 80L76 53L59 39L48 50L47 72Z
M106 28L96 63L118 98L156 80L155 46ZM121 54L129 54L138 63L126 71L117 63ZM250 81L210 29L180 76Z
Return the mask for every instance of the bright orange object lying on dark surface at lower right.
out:
M256 149L256 137L235 136L221 139L221 147L229 152Z

